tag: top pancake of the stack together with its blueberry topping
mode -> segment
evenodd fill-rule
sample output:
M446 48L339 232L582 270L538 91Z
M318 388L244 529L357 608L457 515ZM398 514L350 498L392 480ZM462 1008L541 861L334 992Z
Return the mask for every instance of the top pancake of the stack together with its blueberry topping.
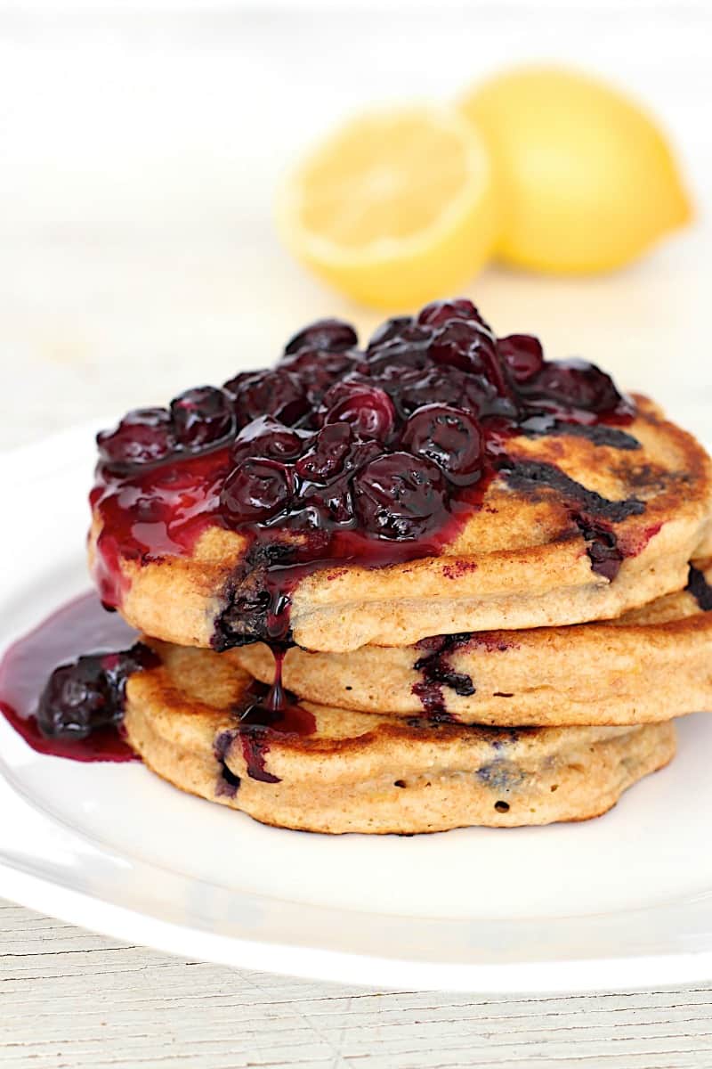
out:
M712 556L710 461L643 398L468 300L364 348L323 321L270 371L98 437L102 600L186 646L323 652L611 619Z

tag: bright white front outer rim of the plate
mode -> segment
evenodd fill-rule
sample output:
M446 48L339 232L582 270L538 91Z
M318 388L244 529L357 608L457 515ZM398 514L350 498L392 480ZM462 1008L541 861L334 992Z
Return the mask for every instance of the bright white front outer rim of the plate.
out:
M17 904L110 939L139 943L176 957L303 980L405 992L575 994L647 990L658 983L705 982L712 975L712 949L709 948L638 957L502 964L418 962L325 950L288 942L225 936L176 925L22 872L2 861L0 881L3 897Z

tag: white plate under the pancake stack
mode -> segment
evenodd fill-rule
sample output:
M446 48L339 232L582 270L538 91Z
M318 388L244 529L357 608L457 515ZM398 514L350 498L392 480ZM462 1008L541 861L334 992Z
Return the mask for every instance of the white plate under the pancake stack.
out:
M0 458L0 649L88 586L92 428ZM712 718L583 824L329 837L264 827L139 764L0 723L0 895L133 943L379 987L592 990L712 978Z

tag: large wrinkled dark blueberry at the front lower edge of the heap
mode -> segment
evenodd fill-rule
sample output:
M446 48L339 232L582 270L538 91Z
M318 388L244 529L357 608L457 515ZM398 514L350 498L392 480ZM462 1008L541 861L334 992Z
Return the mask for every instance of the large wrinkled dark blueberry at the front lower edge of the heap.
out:
M385 539L416 539L442 520L446 491L442 471L424 458L386 453L354 478L361 523Z

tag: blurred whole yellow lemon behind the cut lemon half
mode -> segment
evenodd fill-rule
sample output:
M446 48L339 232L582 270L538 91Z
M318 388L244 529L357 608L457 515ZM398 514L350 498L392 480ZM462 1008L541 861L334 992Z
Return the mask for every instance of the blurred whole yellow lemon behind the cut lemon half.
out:
M524 67L475 87L460 107L492 155L507 263L608 270L691 218L654 121L594 78Z

